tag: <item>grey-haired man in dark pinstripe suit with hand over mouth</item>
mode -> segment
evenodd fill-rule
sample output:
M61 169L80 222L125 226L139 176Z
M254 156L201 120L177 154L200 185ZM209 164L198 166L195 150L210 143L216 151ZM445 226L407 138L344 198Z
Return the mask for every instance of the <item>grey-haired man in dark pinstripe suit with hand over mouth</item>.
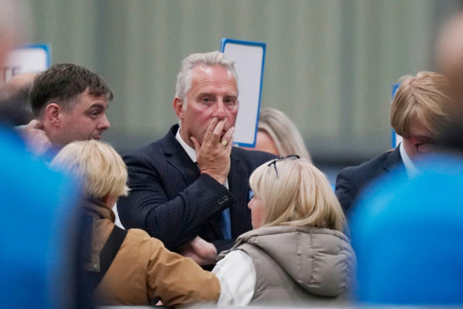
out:
M120 197L118 212L124 227L212 264L217 251L252 229L249 175L276 156L232 146L238 87L234 61L223 53L183 60L173 107L180 126L123 156L132 191Z

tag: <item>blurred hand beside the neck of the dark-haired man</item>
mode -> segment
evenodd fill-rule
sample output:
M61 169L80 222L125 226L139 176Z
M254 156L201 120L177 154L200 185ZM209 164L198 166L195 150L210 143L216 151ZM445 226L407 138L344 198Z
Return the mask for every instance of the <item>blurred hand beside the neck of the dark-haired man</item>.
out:
M25 126L16 126L15 129L24 139L28 151L34 155L42 156L51 147L51 141L43 131L41 121L33 119Z

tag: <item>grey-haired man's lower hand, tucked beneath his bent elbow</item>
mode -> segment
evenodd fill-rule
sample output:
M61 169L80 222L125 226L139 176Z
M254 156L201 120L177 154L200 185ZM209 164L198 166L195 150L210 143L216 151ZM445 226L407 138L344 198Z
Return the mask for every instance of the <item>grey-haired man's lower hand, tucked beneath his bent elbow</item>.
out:
M181 246L179 253L182 256L192 258L193 261L201 266L214 264L217 257L215 246L199 236Z

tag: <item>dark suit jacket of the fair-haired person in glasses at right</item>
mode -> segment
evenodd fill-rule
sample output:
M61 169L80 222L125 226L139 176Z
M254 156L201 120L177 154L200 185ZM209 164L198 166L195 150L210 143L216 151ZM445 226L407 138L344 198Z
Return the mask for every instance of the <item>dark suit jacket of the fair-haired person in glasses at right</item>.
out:
M336 196L345 214L349 214L353 202L365 188L365 185L395 168L405 170L398 146L394 150L387 151L370 161L360 164L360 166L351 166L341 170L336 178Z

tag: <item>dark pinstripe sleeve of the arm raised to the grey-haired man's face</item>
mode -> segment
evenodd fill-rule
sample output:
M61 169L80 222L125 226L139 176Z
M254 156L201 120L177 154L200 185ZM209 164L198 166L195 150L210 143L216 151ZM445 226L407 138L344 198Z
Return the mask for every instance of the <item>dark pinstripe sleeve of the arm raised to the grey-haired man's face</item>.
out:
M124 160L130 193L118 200L121 222L126 228L144 229L167 249L177 249L196 237L202 224L233 202L229 190L209 175L200 175L185 187L182 175L168 163L153 166L150 160L133 155ZM177 193L174 188L184 190Z

